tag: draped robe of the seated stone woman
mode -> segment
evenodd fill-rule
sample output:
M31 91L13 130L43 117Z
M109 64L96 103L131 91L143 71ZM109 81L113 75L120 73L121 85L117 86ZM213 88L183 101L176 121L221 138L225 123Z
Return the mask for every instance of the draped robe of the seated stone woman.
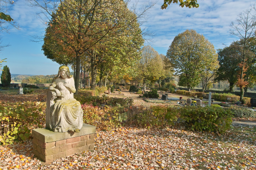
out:
M55 104L51 107L50 129L53 132L67 132L81 129L83 126L83 110L79 101L74 99L74 94L64 86L60 78L56 80L56 89L61 92ZM75 88L74 79L68 78L65 82Z

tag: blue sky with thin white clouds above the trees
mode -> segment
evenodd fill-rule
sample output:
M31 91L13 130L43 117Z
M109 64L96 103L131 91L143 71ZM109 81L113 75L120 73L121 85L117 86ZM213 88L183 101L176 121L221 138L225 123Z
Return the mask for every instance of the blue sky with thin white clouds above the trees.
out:
M140 3L143 1L140 0ZM230 23L255 1L198 0L198 3L198 9L181 8L175 3L162 10L163 0L159 0L150 10L148 23L142 27L155 32L150 45L159 54L166 55L174 37L186 29L195 29L203 34L215 49L223 48L223 43L230 45L233 40L238 40L229 33ZM11 45L0 52L0 59L7 58L7 63L3 65L9 66L12 74L51 75L58 72L59 64L44 56L42 44L30 41L29 35L44 34L45 29L43 23L33 15L35 12L36 9L27 6L25 0L18 0L9 14L20 25L20 30L10 27L9 33L0 33L2 43Z

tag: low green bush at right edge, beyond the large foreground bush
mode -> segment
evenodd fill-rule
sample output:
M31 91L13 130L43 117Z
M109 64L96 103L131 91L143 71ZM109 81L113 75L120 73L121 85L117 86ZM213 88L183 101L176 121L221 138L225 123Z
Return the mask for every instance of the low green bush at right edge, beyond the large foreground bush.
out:
M233 117L235 118L256 118L256 112L244 107L232 107L227 109L233 112Z

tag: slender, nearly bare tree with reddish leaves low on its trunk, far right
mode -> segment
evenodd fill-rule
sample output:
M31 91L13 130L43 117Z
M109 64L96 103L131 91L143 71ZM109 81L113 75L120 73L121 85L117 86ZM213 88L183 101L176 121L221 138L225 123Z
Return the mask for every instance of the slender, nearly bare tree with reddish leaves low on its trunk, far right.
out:
M247 81L244 81L244 68L246 66L246 53L250 43L250 38L253 37L253 33L255 32L255 14L252 14L252 9L247 9L245 12L240 13L236 22L232 22L230 24L230 34L236 35L240 38L242 42L241 46L241 71L237 84L240 87L240 101L244 97L244 87L248 84Z

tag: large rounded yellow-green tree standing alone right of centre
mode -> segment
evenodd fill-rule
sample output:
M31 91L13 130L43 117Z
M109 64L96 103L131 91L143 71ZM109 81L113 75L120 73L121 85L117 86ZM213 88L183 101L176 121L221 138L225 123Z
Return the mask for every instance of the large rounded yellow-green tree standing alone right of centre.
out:
M178 34L166 53L175 75L179 76L179 85L191 88L201 81L201 74L211 63L216 63L218 55L212 43L204 35L193 29Z

